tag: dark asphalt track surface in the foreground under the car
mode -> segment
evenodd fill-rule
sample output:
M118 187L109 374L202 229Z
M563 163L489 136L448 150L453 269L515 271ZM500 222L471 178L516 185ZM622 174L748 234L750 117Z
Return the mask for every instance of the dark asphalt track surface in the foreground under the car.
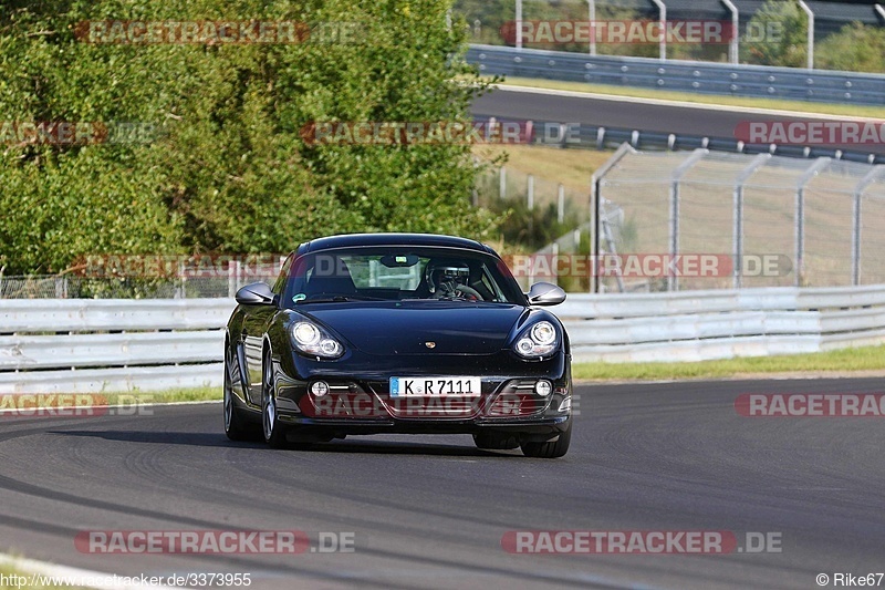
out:
M6 550L119 575L249 572L251 588L819 588L885 570L882 418L758 418L741 393L882 392L882 380L583 385L562 459L469 436L231 443L220 404L0 420ZM321 555L91 555L84 530L353 531ZM511 555L510 530L728 530L781 552ZM884 582L885 583L885 582Z

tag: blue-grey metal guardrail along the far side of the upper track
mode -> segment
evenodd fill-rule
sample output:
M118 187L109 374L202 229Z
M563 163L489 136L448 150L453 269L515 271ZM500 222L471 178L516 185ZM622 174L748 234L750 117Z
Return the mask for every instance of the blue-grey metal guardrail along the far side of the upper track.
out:
M885 74L717 64L470 45L483 74L638 86L699 94L885 105Z

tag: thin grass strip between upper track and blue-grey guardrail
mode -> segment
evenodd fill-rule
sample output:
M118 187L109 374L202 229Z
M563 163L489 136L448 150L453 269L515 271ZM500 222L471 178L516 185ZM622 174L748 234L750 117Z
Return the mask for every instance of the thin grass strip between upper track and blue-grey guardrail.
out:
M582 82L559 82L533 77L508 77L502 86L531 86L546 90L566 90L613 96L632 96L634 99L657 99L660 101L679 101L718 106L743 106L749 108L767 108L775 111L794 111L796 113L818 113L824 115L844 115L871 118L885 118L885 107L862 106L852 104L810 103L782 99L745 99L738 96L718 96L712 94L691 94L668 90L650 90L629 86L610 86L606 84L586 84Z

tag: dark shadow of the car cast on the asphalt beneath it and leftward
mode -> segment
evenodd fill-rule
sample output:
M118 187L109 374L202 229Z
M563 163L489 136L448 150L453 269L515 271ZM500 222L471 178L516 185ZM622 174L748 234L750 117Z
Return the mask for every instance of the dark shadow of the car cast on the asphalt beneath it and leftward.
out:
M48 434L56 436L77 436L87 438L101 438L104 441L115 441L121 443L152 443L160 445L188 445L201 447L228 447L243 449L267 449L263 442L238 442L229 441L223 434L218 433L194 433L194 432L153 432L153 431L49 431ZM330 443L316 443L308 448L298 447L291 444L282 452L290 453L343 453L358 454L367 453L375 455L436 455L452 457L521 457L517 451L485 451L467 445L438 444L421 442L400 442L400 441L333 441ZM272 451L274 453L280 451Z

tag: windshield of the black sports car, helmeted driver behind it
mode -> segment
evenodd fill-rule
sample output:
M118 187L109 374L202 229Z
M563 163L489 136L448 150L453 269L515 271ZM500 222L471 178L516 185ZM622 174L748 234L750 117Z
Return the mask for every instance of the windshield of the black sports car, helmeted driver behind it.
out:
M454 248L342 248L295 259L288 304L319 301L458 300L524 304L498 258Z

